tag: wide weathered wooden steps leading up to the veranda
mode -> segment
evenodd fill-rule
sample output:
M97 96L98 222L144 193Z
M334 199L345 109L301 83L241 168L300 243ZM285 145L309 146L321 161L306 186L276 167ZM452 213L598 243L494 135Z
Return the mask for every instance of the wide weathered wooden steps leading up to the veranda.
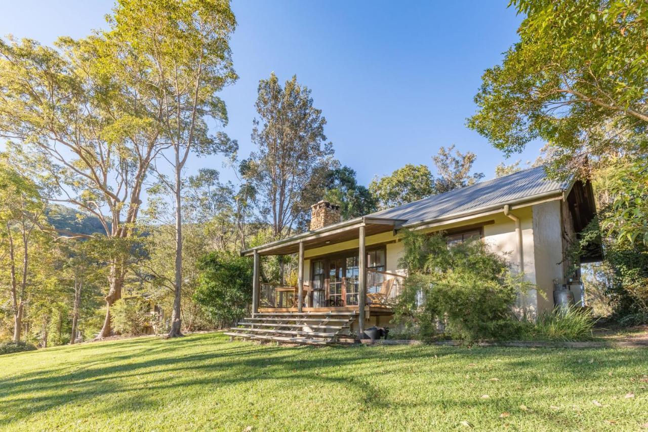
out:
M225 334L234 339L326 345L351 337L355 312L266 312L244 318Z

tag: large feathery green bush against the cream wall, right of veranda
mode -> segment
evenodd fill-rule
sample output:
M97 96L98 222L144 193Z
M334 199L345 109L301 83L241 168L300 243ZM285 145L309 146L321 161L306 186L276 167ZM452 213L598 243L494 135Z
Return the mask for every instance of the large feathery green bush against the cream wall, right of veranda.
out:
M442 234L406 232L401 265L408 269L395 320L423 339L445 333L473 341L509 331L518 293L531 284L513 276L480 240L448 246ZM439 331L445 324L445 329Z

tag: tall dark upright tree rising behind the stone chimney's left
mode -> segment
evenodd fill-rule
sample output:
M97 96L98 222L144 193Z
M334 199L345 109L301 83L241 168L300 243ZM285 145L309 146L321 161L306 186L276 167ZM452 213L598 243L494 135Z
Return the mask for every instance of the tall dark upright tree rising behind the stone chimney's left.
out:
M272 73L259 81L258 92L259 118L253 120L251 136L257 150L242 162L241 171L257 193L260 215L279 239L314 204L308 191L321 187L333 148L324 134L325 117L296 75L281 86Z

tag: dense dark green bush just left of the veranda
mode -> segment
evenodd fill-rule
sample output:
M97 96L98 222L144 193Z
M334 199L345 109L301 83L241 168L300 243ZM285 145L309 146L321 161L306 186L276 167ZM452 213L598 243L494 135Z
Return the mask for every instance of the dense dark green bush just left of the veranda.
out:
M229 252L204 256L194 300L220 326L243 317L252 300L251 260Z

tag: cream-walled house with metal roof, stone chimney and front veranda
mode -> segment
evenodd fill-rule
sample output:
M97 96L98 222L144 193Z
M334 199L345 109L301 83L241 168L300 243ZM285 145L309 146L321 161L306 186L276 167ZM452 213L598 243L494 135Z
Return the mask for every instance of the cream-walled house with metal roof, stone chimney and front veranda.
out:
M580 262L569 262L565 252L594 212L589 182L550 180L544 167L349 221L340 220L339 206L320 201L308 232L241 252L254 258L252 316L227 334L319 344L388 324L405 275L399 267L405 228L443 231L449 243L479 237L537 287L518 306L542 313L553 309L555 284L578 282ZM301 289L260 283L263 256L295 253Z

